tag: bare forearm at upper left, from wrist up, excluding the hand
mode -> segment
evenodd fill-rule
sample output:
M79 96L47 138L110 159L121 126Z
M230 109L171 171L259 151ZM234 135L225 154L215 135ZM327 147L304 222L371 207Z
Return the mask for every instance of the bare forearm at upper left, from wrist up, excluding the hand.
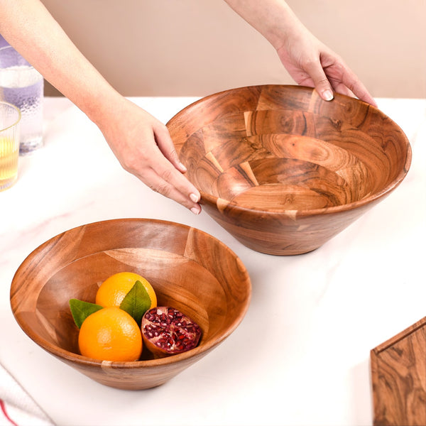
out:
M119 94L84 58L39 0L0 0L0 33L95 122Z

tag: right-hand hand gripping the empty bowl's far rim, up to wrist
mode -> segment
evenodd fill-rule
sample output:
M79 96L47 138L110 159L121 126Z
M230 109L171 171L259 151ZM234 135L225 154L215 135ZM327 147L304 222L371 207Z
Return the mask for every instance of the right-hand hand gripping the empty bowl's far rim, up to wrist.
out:
M356 96L377 106L364 84L344 63L339 55L320 42L306 28L300 26L277 49L278 56L291 77L298 84L315 87L326 101L333 92Z

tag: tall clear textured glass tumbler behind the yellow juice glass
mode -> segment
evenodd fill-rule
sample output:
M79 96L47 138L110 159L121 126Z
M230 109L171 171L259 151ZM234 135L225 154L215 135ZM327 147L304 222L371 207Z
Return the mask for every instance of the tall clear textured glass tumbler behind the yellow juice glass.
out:
M0 100L21 110L21 155L43 146L43 76L10 45L0 48Z

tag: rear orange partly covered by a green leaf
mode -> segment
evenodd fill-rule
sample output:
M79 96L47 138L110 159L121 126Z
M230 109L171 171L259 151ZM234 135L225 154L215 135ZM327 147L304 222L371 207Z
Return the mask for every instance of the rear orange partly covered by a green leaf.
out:
M153 286L146 278L133 272L119 272L104 280L97 290L96 304L103 307L120 307L124 296L129 293L137 280L141 281L148 293L151 299L151 307L157 306L157 296L155 295ZM151 307L149 309L151 309Z

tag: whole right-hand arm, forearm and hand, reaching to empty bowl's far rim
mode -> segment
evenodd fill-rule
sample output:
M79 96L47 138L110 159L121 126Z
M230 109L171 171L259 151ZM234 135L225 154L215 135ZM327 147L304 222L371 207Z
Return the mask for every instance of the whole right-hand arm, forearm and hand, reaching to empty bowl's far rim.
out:
M376 106L342 58L315 38L284 0L225 1L273 45L297 84L315 87L327 101L335 91Z

